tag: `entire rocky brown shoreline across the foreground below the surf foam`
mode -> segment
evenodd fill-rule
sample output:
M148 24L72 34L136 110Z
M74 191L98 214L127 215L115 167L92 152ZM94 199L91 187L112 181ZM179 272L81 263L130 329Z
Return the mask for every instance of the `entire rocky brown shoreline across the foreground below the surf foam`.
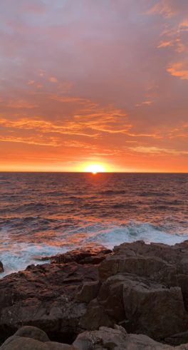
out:
M0 339L2 350L188 349L188 241L87 247L0 279Z

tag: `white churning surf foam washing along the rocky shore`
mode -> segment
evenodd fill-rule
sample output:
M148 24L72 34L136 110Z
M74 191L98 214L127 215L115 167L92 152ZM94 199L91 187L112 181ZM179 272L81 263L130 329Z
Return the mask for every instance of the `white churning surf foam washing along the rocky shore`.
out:
M5 271L1 277L25 269L28 264L44 263L40 261L40 257L50 257L85 245L104 245L112 249L115 245L136 240L174 245L188 240L188 232L184 235L172 235L164 232L160 227L150 225L150 223L130 222L117 225L115 222L110 224L98 222L94 225L88 223L79 229L74 228L66 234L64 232L53 244L52 242L49 244L12 242L7 231L6 235L4 231L4 237L6 240L1 244L1 261Z

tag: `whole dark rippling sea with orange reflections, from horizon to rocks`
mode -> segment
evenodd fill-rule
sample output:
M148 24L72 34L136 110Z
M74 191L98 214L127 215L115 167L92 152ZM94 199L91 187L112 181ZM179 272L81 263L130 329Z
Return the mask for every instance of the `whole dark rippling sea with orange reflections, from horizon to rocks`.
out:
M5 274L84 245L186 240L187 198L188 174L0 173Z

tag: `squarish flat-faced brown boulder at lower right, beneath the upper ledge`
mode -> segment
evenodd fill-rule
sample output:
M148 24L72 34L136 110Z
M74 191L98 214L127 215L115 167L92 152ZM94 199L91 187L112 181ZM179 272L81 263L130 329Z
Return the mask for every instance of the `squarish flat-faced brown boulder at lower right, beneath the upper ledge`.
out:
M134 333L164 339L187 330L188 317L179 287L166 288L145 279L127 279L123 284L125 319Z

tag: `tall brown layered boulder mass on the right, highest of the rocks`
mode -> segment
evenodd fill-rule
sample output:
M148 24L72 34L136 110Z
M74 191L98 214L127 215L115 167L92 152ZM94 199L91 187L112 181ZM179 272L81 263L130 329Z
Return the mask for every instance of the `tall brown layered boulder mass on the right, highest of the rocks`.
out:
M99 267L98 303L111 320L156 340L187 331L187 257L187 242L115 247Z

